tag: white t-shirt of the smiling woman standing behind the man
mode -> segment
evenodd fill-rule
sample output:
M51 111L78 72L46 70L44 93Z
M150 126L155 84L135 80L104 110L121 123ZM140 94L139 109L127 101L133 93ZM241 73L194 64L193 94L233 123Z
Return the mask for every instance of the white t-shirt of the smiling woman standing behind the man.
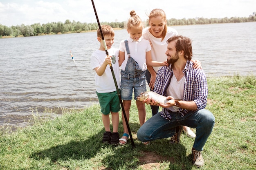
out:
M178 35L178 32L171 28L171 27L167 27L167 33L166 36L164 38L164 40L162 40L162 38L156 38L154 37L150 32L149 32L149 26L146 27L145 29L143 29L142 32L142 38L145 40L149 40L152 43L152 49L151 49L151 56L152 56L152 60L155 60L157 62L164 62L167 60L166 57L166 50L167 50L167 40L170 37L173 37L174 35ZM155 72L157 73L158 69L160 67L153 67Z

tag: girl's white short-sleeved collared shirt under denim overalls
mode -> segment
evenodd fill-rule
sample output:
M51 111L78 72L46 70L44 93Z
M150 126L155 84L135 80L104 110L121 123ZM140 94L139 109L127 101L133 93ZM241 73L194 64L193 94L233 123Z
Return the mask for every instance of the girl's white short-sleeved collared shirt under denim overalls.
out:
M130 50L130 56L139 64L143 71L147 69L146 64L146 52L151 50L151 46L148 40L140 38L138 41L128 38L128 46ZM119 50L124 52L124 62L121 64L121 69L125 70L126 63L128 60L128 54L126 52L126 47L124 40L121 41Z

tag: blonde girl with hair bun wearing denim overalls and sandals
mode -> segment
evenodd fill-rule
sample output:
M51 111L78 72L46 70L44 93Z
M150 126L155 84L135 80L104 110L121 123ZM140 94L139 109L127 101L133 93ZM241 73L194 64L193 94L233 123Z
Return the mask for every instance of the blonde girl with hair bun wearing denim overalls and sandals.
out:
M141 18L135 11L130 11L130 18L127 22L127 31L130 37L123 40L119 47L119 66L121 66L121 98L123 99L124 110L129 121L130 106L132 101L132 91L136 96L146 91L146 70L149 66L164 66L166 61L156 62L151 59L151 46L148 40L141 38L143 24ZM142 126L146 121L145 104L136 100L139 112L139 124ZM120 145L125 145L129 138L126 121L122 114L124 135L119 139ZM149 144L145 142L144 144Z

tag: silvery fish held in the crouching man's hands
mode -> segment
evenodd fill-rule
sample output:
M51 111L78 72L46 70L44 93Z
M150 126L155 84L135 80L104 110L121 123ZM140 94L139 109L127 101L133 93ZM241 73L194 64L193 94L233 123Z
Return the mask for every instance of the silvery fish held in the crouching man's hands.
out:
M154 99L157 102L157 104L175 104L176 101L180 100L180 99L167 99L165 96L159 95L153 91L146 91L144 93L141 93L139 96L137 96L137 99L139 101L143 101L148 98Z

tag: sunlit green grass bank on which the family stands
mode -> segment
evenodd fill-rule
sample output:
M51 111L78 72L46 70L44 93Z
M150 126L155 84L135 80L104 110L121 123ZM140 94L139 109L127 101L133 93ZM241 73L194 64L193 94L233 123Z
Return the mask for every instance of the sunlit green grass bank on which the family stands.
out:
M202 170L256 169L256 79L253 75L208 78L208 104L216 124L202 152ZM147 117L151 110L146 105ZM139 120L135 102L130 129L135 142L126 146L101 143L103 124L99 105L65 110L54 119L34 115L33 126L0 130L0 170L196 170L191 163L194 139L168 139L144 146L137 140ZM121 112L120 112L121 118ZM121 120L121 119L120 119ZM122 122L119 134L122 134ZM194 129L195 131L195 129Z

